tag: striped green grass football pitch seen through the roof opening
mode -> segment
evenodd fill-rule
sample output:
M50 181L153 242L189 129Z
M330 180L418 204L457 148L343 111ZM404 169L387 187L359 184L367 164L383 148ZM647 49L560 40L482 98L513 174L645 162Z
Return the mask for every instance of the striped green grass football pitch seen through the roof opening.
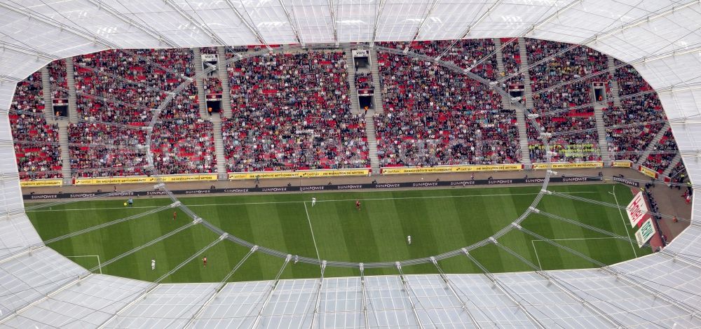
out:
M551 186L551 190L575 193L592 200L615 203L610 192L613 185ZM454 188L440 190L394 190L354 193L299 193L275 195L239 195L186 197L181 201L222 230L260 246L275 248L292 255L346 262L376 262L423 258L468 246L485 239L512 223L529 207L540 187ZM632 193L617 185L619 204L626 205ZM314 207L311 197L316 197ZM355 209L360 199L362 209ZM59 237L76 230L90 228L142 213L169 204L163 198L135 199L135 207L123 206L125 200L74 202L50 209L27 211L42 239ZM625 212L594 206L584 202L546 195L539 209L587 223L597 228L633 237ZM95 267L137 246L161 237L190 223L182 211L173 209L133 219L107 228L88 232L52 244L51 248L83 267ZM611 239L579 226L530 215L522 226L560 244L589 255L595 260L613 264L651 253L620 239ZM411 235L411 245L406 237ZM157 244L102 267L102 273L154 281L191 255L217 239L202 225L173 235ZM522 232L512 231L499 242L543 269L595 267L594 264L562 251ZM203 255L189 262L163 282L218 282L243 258L248 249L231 241L216 244ZM317 254L318 253L318 254ZM494 245L471 253L490 272L531 270L514 256ZM156 269L151 270L151 258ZM283 259L253 253L230 281L274 279ZM464 255L441 260L448 273L481 273ZM436 273L432 264L404 266L405 274ZM397 269L366 269L366 275L397 274ZM352 268L328 267L325 276L356 276ZM320 276L315 265L302 262L288 265L280 278Z

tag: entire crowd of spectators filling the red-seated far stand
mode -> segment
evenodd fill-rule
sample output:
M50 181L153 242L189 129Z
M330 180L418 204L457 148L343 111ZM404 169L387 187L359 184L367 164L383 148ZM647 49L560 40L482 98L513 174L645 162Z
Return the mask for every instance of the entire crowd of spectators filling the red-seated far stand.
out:
M510 75L521 68L519 43L510 38L501 42L503 74ZM482 78L498 78L493 39L380 45L409 48L463 69L474 66L472 72ZM226 57L261 49L227 48ZM215 54L217 48L200 52ZM632 66L616 69L611 77L606 55L553 41L526 38L526 52L531 65L550 57L529 73L532 111L541 114L536 120L543 130L556 135L550 141L552 161L601 160L594 81L604 82L608 107L602 119L611 158L640 160L640 151L648 148L666 117L655 93L629 97L652 89ZM384 113L376 114L374 125L382 167L517 163L526 156L519 147L516 112L502 109L501 96L488 85L411 54L379 50L377 62ZM229 64L233 116L222 122L225 159L215 158L214 128L200 118L196 83L162 104L170 91L194 76L191 50L106 50L74 57L74 63L79 123L69 125L69 160L75 176L149 174L141 126L156 113L160 120L151 150L161 174L214 173L217 160L226 163L228 172L369 167L365 118L351 112L341 50L269 52ZM67 99L66 61L48 64L48 71L53 99ZM613 78L620 106L613 106ZM223 92L216 77L205 78L201 87L207 95ZM372 89L372 73L356 73L355 87ZM43 118L42 90L41 72L36 72L18 84L11 105L15 141L36 142L15 143L22 179L61 176L57 127ZM158 106L160 112L154 110ZM526 135L532 162L547 160L530 120ZM643 165L664 172L675 153L663 151L676 149L669 130Z

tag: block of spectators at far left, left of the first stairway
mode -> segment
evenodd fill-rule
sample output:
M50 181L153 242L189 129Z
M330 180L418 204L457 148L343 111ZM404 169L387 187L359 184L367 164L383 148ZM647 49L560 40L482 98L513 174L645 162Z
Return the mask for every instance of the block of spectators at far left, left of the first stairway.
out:
M20 179L62 177L58 127L43 117L41 71L20 81L10 104L10 126Z

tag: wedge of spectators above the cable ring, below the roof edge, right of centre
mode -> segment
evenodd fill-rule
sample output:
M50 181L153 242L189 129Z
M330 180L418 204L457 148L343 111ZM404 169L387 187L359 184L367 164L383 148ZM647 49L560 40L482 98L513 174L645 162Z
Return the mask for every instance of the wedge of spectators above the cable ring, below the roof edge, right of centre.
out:
M442 61L456 64L461 69L472 69L472 73L495 80L496 78L496 48L491 38L436 40L436 41L392 41L381 42L379 45L387 48L409 49L428 57L440 57Z

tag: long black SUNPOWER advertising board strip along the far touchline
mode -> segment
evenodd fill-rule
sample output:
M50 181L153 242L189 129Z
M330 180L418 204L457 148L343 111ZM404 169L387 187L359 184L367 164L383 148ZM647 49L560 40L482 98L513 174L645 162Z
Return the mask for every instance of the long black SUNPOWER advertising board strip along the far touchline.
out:
M252 173L253 174L253 173ZM175 195L206 195L212 193L240 194L240 193L284 193L284 192L306 192L306 191L337 191L337 190L386 190L392 188L466 188L477 185L512 185L512 184L542 184L543 178L528 179L479 179L464 181L415 181L402 183L360 183L344 185L310 185L310 186L272 186L264 188L207 188L199 190L172 190ZM600 182L597 177L552 177L551 183L571 183L571 182ZM50 200L50 199L76 199L85 197L154 197L167 196L163 190L130 191L114 193L110 192L84 192L84 193L58 193L58 194L25 194L25 200Z

